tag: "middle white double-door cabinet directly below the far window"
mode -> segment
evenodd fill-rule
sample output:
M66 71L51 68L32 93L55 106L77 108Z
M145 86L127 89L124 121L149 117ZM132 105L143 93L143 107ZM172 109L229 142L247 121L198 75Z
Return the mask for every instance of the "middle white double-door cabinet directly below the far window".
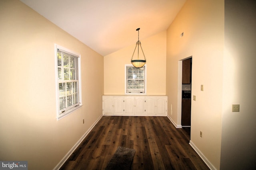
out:
M124 96L125 115L144 115L144 96Z

